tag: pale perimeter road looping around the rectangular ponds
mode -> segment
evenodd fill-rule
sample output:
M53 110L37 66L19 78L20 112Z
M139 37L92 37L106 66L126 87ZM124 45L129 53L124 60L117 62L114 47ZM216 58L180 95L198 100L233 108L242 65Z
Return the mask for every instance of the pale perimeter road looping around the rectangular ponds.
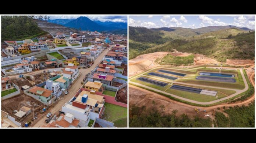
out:
M199 68L202 68L202 67L199 67ZM153 68L155 69L155 68ZM169 69L174 69L174 68L169 68ZM196 68L192 68L192 69L196 69ZM185 70L185 69L184 69ZM191 70L191 69L186 69L186 70ZM170 93L167 93L165 91L161 91L161 90L158 90L158 89L154 89L152 87L149 87L149 86L145 86L143 84L139 84L139 83L135 83L135 82L131 82L130 80L133 79L129 79L129 82L132 83L132 84L135 84L135 85L138 85L138 86L142 86L142 87L145 87L147 89L150 89L150 90L154 90L154 91L157 91L157 92L160 92L160 93L163 93L163 94L167 94L167 95L170 95L172 97L175 97L175 98L178 98L178 99L181 99L181 100L184 100L184 101L188 101L188 102L191 102L191 103L195 103L195 104L200 104L200 105L210 105L210 104L214 104L214 103L217 103L217 102L220 102L220 101L224 101L226 99L229 99L231 97L235 97L236 95L240 94L240 93L243 93L245 92L246 90L248 90L248 84L246 82L246 79L245 79L245 75L243 74L243 71L242 71L242 68L239 68L240 72L241 72L241 75L242 75L242 78L243 78L243 82L245 83L245 88L243 90L238 90L238 89L228 89L228 88L222 88L222 87L218 87L219 89L226 89L226 90L234 90L236 91L236 93L232 94L232 95L229 95L228 97L224 97L224 98L221 98L221 99L216 99L214 101L209 101L209 102L199 102L199 101L194 101L194 100L191 100L191 99L187 99L187 98L183 98L183 97L179 97L177 95L174 95L174 94L170 94ZM142 75L144 73L141 73L139 74L138 76ZM136 78L137 76L135 76L134 78ZM173 83L179 83L179 82L173 82ZM184 83L182 83L184 84ZM189 84L189 83L186 83L186 85L192 85L192 86L198 86L197 84ZM201 85L202 86L202 85ZM202 87L211 87L211 88L216 88L215 86L202 86Z

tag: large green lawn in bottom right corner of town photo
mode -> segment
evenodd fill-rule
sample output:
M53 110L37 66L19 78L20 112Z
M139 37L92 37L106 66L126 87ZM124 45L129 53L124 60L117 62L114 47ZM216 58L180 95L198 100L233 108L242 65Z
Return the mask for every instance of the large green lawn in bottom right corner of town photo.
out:
M105 107L104 120L117 123L115 127L127 127L127 108L109 103L105 103Z

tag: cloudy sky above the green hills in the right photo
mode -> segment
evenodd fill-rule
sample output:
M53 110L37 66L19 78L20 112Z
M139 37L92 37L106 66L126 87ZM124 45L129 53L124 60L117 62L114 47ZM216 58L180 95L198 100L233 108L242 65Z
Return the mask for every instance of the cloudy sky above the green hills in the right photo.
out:
M129 26L133 27L184 27L200 28L206 26L226 26L234 25L237 27L247 27L255 29L255 16L250 15L229 15L229 16L212 16L212 15L165 15L165 16L129 16Z

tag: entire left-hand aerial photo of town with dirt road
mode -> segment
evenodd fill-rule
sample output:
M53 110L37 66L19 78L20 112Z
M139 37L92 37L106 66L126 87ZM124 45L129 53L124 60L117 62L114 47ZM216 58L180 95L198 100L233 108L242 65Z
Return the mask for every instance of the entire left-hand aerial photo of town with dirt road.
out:
M127 127L127 29L120 15L2 15L1 128Z

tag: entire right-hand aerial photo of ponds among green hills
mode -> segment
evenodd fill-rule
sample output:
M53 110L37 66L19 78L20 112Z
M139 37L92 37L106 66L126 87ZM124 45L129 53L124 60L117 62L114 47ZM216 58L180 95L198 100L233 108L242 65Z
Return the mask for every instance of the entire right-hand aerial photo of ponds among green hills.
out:
M129 16L129 127L255 127L255 16Z

